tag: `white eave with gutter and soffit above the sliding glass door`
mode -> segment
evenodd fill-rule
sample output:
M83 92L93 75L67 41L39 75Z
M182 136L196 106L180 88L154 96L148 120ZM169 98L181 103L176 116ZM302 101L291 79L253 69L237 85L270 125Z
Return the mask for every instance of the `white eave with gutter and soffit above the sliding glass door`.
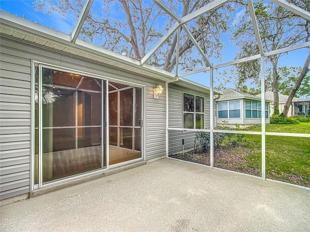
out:
M123 56L83 40L77 39L75 43L72 43L71 36L68 34L44 27L2 10L0 10L0 33L108 64L132 73L163 81L175 80L175 75L172 73L148 64L141 66L139 60Z

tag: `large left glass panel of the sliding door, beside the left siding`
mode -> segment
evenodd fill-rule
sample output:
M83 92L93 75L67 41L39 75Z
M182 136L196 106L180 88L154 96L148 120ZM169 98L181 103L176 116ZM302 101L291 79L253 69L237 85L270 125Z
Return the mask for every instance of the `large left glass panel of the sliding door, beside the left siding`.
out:
M101 168L102 82L42 69L43 183Z

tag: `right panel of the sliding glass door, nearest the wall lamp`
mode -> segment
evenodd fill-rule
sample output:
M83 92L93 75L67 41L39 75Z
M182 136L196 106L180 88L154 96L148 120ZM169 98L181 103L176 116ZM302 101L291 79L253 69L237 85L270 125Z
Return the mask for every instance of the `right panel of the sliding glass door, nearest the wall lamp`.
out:
M141 88L109 82L109 164L141 158Z

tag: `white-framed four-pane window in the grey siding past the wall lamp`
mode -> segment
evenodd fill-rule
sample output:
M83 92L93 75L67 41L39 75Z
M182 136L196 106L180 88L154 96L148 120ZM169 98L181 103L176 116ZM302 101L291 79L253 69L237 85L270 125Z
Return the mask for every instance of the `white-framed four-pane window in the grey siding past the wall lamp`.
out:
M183 128L204 128L204 98L183 93Z

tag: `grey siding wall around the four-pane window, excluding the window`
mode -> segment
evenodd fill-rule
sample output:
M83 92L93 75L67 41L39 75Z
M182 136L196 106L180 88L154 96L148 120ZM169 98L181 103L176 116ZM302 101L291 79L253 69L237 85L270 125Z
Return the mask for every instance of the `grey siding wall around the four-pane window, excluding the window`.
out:
M173 83L169 84L168 90L169 127L183 127L183 92L204 97L204 126L205 128L210 127L210 92L200 92L197 89L181 87ZM169 154L182 151L182 139L185 140L185 151L194 148L195 132L169 131Z

